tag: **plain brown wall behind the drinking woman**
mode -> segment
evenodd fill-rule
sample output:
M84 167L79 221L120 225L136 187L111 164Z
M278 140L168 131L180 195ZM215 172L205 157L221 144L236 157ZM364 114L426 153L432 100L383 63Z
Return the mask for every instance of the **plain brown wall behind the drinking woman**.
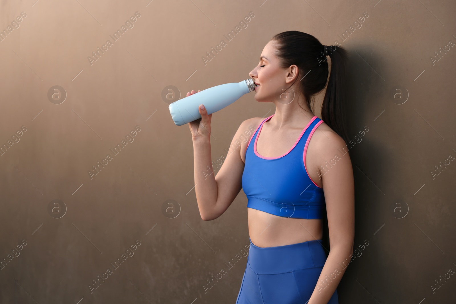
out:
M0 41L0 144L11 145L0 156L1 304L234 303L245 257L204 286L249 242L247 199L241 191L223 216L202 221L191 134L161 96L249 78L269 38L288 30L350 52L358 257L340 303L455 299L455 275L441 279L456 269L454 1L34 1L0 1L0 30L26 14ZM63 102L48 98L57 85ZM252 93L213 114L214 162L243 120L274 110ZM114 155L122 140L133 141Z

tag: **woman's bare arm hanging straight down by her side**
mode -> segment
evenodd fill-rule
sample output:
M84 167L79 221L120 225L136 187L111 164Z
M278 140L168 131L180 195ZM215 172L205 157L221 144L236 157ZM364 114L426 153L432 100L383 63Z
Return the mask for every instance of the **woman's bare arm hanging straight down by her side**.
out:
M343 139L331 131L322 132L326 136L320 137L317 149L324 151L318 163L326 165L325 171L320 174L328 216L330 251L308 304L326 304L331 299L352 259L355 232L352 162L348 152L341 152L346 150ZM332 165L334 160L336 163ZM329 168L326 161L331 163Z

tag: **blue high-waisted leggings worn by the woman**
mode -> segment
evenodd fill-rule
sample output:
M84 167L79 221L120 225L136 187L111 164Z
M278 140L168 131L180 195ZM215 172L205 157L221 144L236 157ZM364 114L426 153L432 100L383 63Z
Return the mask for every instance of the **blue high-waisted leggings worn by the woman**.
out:
M258 247L250 240L236 304L306 304L325 261L321 240L276 247ZM328 304L338 303L336 290Z

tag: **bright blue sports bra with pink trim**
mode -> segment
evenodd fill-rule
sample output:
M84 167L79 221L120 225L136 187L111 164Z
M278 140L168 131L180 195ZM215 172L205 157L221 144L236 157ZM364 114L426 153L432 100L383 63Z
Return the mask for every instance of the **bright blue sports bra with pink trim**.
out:
M323 188L311 180L305 160L309 140L323 121L314 116L288 152L264 157L256 151L256 143L264 122L274 115L259 124L247 144L242 174L247 207L276 216L321 219L326 208Z

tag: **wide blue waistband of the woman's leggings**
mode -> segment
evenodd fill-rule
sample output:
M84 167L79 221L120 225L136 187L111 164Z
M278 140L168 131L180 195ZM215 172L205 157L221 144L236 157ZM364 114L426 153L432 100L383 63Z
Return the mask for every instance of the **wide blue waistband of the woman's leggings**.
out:
M326 254L321 240L258 247L250 240L248 261L256 273L285 273L301 268L323 267Z

